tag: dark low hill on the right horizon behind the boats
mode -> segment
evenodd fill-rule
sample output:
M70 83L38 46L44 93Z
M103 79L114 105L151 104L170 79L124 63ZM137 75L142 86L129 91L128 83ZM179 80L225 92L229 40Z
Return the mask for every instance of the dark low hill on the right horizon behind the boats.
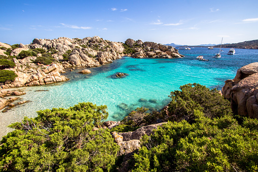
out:
M220 47L220 45L216 45L214 47ZM223 44L222 48L258 49L258 40L245 41L235 44Z

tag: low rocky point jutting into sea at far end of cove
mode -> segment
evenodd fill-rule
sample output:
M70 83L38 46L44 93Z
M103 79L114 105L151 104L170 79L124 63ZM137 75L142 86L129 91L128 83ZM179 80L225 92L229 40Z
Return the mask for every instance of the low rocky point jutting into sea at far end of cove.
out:
M154 42L144 42L141 40L134 41L127 39L125 44L132 48L135 53L130 55L135 58L150 57L150 58L177 58L183 57L178 53L178 50L172 46L157 44Z

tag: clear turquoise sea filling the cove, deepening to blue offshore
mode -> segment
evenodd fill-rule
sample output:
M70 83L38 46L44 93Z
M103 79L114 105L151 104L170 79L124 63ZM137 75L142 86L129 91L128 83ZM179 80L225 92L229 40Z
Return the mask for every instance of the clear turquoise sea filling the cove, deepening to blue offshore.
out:
M24 116L36 117L36 111L52 108L69 108L79 102L106 105L107 120L120 121L132 110L139 107L149 111L160 110L171 98L170 92L179 90L181 85L199 83L212 89L222 89L225 81L233 79L237 70L258 61L258 50L235 49L234 55L227 55L229 49L222 49L221 58L212 58L219 52L207 48L179 50L182 58L132 58L122 57L113 63L89 68L91 74L79 74L84 68L67 70L70 80L44 86L15 88L26 92L21 100L29 100L23 105L0 113L0 138L12 129L7 126L19 122ZM203 55L209 61L199 61ZM116 78L116 73L126 73L124 78Z

